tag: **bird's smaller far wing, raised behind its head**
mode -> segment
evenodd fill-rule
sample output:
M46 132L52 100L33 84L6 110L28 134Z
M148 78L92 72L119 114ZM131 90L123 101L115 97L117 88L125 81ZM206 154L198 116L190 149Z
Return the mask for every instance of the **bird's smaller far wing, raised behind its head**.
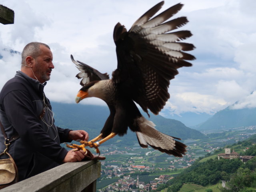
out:
M98 70L86 65L85 63L74 60L72 55L70 57L72 62L76 64L78 70L80 70L80 73L76 75L78 79L82 78L80 85L84 86L85 84L92 81L109 79L109 75L107 73L102 74Z

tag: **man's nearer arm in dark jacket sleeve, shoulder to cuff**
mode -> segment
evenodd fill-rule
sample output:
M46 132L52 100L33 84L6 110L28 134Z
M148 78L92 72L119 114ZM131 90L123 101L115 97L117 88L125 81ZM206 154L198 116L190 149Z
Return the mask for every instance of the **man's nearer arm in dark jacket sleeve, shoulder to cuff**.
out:
M68 151L51 139L42 129L27 92L12 91L5 96L3 104L9 122L22 140L34 150L56 162L61 163L64 160Z

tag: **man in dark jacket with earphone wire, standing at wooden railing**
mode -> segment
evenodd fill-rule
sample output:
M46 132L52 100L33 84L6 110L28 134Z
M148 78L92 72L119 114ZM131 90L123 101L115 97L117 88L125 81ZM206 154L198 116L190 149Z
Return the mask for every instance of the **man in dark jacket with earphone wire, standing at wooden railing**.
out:
M81 161L82 150L67 151L62 142L88 140L84 130L69 130L54 125L50 101L44 94L46 81L54 65L50 47L31 42L22 51L22 66L0 92L0 121L8 138L18 135L11 142L8 152L18 167L19 180L24 180L61 163ZM4 137L0 132L0 152Z

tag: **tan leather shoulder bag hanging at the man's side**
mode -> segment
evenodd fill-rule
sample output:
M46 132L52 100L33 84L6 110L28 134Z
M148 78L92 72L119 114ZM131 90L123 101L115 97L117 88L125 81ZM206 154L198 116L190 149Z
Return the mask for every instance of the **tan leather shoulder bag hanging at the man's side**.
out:
M8 152L2 152L0 156L6 154L7 159L0 159L0 189L18 182L18 169Z

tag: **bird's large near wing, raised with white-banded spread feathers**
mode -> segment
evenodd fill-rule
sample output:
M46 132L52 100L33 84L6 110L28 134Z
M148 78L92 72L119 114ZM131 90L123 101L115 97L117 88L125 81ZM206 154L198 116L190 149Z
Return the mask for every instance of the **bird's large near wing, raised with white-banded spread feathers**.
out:
M118 59L112 79L121 85L145 112L158 114L170 95L170 80L178 74L178 68L192 66L185 60L194 56L184 51L193 50L193 44L180 42L192 34L188 30L175 30L188 22L186 17L168 20L182 4L176 4L150 19L164 2L160 2L142 15L127 32L120 23L114 28L114 42Z

